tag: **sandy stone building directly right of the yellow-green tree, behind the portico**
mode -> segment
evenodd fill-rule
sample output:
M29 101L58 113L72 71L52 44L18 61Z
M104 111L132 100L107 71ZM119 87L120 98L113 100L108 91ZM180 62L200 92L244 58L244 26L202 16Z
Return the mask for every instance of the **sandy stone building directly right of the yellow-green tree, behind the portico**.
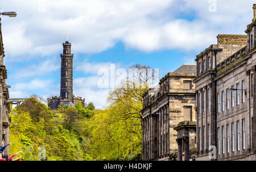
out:
M177 153L174 128L196 120L195 78L196 65L183 65L143 94L143 160L171 160Z

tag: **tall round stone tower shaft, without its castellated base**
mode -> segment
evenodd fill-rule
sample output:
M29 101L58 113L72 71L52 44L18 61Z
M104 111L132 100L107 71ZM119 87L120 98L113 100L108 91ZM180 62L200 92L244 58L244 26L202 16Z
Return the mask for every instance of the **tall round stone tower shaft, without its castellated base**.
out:
M71 54L71 43L63 43L63 54L61 57L60 72L60 96L61 99L73 100L73 54Z

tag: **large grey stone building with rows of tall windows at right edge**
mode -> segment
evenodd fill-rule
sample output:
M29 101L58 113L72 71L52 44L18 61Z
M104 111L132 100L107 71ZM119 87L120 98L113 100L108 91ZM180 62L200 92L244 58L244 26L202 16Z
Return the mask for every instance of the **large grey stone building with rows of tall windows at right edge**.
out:
M196 57L195 160L256 160L256 5L253 8L247 35L218 35L218 44ZM216 157L209 158L212 150Z

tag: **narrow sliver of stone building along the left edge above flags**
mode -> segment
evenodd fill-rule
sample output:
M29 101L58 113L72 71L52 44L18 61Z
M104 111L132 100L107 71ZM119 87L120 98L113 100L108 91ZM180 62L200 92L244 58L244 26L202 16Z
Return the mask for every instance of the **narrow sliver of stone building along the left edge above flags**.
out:
M3 65L3 58L5 57L5 51L3 50L3 39L1 29L1 18L0 18L0 145L9 144L9 131L10 131L10 105L8 102L9 91L6 85L7 70ZM0 158L9 156L9 148L6 147L5 151L1 154Z

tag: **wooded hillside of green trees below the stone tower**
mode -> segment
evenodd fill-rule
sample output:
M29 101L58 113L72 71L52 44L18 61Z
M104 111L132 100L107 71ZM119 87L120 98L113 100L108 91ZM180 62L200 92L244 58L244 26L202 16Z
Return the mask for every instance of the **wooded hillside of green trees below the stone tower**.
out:
M94 109L59 107L49 110L36 98L28 98L11 113L10 154L22 151L23 161L40 161L39 147L46 148L47 161L92 160L86 152L88 121Z

